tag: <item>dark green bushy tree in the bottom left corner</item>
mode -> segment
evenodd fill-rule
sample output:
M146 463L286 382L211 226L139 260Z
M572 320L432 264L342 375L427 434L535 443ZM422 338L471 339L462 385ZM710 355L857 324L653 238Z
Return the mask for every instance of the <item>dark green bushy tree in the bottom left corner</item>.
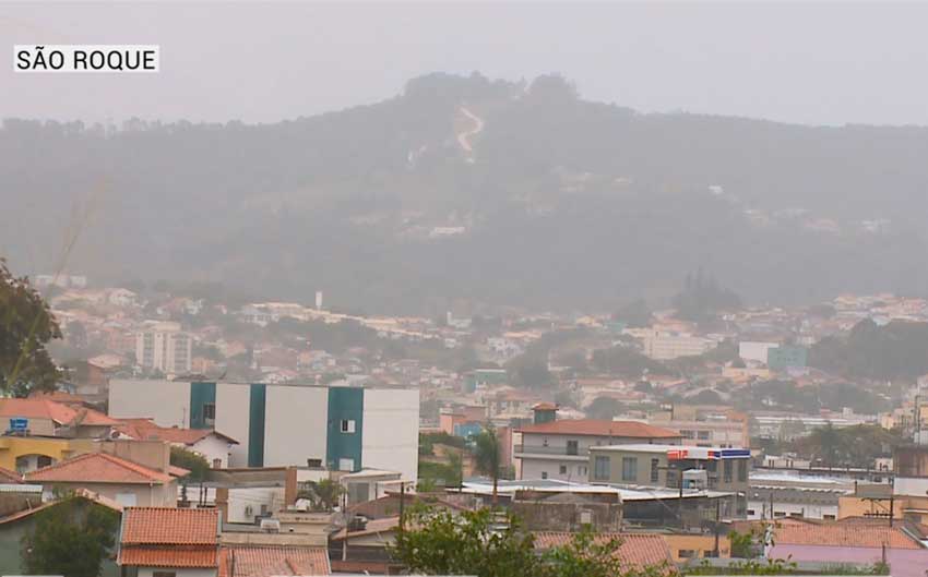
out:
M21 541L24 569L32 575L97 577L115 544L119 515L81 497L36 515Z

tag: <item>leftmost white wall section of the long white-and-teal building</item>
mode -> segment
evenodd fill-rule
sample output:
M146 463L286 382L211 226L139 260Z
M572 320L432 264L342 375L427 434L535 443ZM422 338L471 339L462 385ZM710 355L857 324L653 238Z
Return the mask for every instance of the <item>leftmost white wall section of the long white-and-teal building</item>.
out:
M123 380L109 382L109 416L150 417L162 426L190 426L190 383Z

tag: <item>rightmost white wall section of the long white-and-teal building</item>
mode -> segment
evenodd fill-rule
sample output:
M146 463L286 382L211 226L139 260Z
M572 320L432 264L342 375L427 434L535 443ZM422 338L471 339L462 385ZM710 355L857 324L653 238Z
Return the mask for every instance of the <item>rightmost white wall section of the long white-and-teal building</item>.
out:
M398 471L415 481L418 465L418 389L365 389L361 466Z

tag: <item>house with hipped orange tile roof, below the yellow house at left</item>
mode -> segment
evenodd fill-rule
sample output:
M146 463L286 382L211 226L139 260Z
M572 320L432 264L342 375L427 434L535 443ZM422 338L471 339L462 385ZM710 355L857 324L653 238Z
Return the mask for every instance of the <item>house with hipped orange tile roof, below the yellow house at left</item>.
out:
M87 453L26 473L27 483L46 492L87 489L123 506L174 507L177 479L106 453Z

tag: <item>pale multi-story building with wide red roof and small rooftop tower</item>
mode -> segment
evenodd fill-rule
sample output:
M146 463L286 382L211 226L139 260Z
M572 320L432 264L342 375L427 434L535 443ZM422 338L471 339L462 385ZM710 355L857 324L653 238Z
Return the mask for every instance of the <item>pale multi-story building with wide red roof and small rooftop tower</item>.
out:
M585 480L590 450L623 443L679 443L680 433L635 421L556 420L556 407L540 405L535 422L515 429L513 447L519 479Z

